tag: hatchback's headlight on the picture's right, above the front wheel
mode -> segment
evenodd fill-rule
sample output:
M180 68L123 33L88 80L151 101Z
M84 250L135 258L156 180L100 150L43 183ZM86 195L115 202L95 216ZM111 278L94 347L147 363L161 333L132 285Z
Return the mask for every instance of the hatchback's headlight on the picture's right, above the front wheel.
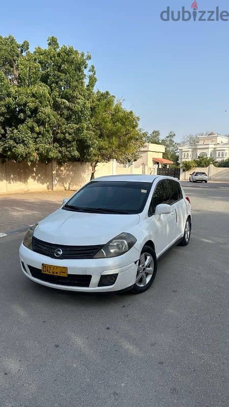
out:
M133 247L137 239L130 235L129 233L121 233L116 238L113 238L108 242L101 250L94 255L94 258L104 258L104 257L117 257L126 253Z

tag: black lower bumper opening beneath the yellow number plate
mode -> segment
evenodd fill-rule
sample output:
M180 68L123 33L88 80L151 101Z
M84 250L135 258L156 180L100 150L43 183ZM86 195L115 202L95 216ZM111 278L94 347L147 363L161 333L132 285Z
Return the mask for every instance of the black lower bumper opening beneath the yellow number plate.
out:
M33 277L39 280L46 281L52 284L69 285L76 287L89 287L92 279L91 275L84 274L69 274L68 277L52 276L43 274L40 269L33 266L28 266Z

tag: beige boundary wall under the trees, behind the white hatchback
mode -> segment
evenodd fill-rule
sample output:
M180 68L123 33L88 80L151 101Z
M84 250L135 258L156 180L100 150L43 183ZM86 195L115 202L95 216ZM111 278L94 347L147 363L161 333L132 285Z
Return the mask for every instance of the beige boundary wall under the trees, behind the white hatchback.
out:
M91 178L90 163L68 162L58 165L50 164L27 164L0 160L0 194L11 194L25 191L49 191L49 190L77 190ZM99 163L95 172L95 178L105 175L116 174L141 174L142 167L121 168L116 160L108 163Z

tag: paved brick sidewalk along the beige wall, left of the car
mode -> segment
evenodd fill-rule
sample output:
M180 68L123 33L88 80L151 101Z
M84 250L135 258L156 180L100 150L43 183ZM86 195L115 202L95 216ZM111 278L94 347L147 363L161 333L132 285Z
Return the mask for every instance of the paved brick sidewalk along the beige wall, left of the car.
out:
M0 195L0 237L25 229L60 208L75 191L22 192Z

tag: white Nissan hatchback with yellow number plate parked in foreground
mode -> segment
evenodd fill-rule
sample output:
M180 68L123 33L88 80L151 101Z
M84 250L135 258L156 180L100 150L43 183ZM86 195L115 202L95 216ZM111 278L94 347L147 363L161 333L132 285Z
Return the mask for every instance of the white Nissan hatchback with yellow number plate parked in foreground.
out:
M27 231L20 263L27 278L52 288L142 293L158 258L187 245L190 232L190 200L175 178L102 177Z

